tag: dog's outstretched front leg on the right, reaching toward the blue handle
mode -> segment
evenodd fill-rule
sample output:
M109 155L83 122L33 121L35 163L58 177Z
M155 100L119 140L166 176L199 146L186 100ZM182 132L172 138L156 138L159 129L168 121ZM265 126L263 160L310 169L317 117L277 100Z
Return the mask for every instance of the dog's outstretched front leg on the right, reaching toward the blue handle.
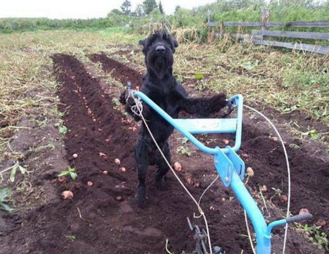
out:
M224 93L208 98L182 97L180 100L181 110L184 110L189 114L198 114L202 116L218 112L226 105L227 100Z

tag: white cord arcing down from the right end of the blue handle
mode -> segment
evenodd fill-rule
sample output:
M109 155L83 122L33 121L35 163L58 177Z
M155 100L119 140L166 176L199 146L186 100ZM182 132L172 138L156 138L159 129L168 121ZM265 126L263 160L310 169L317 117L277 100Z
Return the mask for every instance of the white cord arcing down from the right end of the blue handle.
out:
M274 124L265 116L263 115L261 112L255 110L254 108L247 106L247 105L243 105L244 107L248 108L249 110L252 110L256 113L258 113L259 115L261 115L262 117L264 117L264 119L272 126L273 130L275 130L278 138L280 139L280 142L282 144L282 148L283 148L283 152L284 152L284 156L286 158L286 164L287 164L287 172L288 172L288 204L287 204L287 218L290 215L290 193L291 193L291 183L290 183L290 166L289 166L289 160L288 160L288 154L286 151L286 148L284 146L284 142L283 139L281 138L280 133L278 132L276 126L274 126ZM285 226L285 231L284 231L284 241L283 241L283 249L282 249L282 253L285 253L285 248L286 248L286 242L287 242L287 234L288 234L288 224L286 223Z

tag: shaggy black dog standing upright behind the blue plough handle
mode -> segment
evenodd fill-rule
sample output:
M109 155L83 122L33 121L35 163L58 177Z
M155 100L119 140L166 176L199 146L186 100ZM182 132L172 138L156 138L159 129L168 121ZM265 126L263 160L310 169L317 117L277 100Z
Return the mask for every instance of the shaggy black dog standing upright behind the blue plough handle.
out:
M225 94L218 94L210 98L188 97L184 87L173 76L173 53L178 44L170 34L164 31L154 31L148 38L139 41L139 44L143 46L142 51L145 55L145 64L148 69L147 74L143 77L141 92L153 100L172 118L177 118L181 110L189 114L206 116L220 111L221 108L228 104ZM128 94L127 90L125 90L120 96L120 102L126 104L125 110L138 121L140 118L131 112L130 106L134 103ZM163 154L171 162L168 138L173 131L173 126L152 108L146 107L145 103L143 103L142 115L147 120L147 124ZM137 202L139 205L142 205L146 197L145 177L149 165L158 167L155 183L159 189L165 189L162 177L169 170L144 123L142 123L138 133L135 160L138 174Z

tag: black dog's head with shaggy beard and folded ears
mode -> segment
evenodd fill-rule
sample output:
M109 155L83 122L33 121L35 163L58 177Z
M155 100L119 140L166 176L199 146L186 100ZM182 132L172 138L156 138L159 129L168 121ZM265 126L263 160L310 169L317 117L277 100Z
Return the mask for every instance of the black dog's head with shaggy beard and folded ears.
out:
M172 71L173 53L178 43L169 33L162 30L154 31L148 38L140 40L139 44L143 46L148 71L154 72L159 79Z

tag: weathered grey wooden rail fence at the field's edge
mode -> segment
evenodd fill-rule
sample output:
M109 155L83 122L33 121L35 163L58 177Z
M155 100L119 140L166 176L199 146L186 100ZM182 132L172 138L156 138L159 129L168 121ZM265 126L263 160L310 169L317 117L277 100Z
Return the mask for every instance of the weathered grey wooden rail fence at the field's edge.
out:
M220 32L214 33L215 37L229 36L234 39L243 39L244 41L250 41L253 44L258 44L258 45L285 47L285 48L291 48L297 50L311 51L321 54L329 53L329 46L304 44L300 42L291 43L291 42L266 40L266 37L285 37L285 38L329 41L328 32L294 32L294 31L267 30L268 27L329 27L329 21L297 21L297 22L284 23L284 22L269 22L268 17L269 17L268 10L264 10L261 22L239 22L239 21L210 22L208 19L207 24L210 27L218 27L220 29ZM225 33L224 28L228 26L261 27L261 29L252 30L250 34Z

